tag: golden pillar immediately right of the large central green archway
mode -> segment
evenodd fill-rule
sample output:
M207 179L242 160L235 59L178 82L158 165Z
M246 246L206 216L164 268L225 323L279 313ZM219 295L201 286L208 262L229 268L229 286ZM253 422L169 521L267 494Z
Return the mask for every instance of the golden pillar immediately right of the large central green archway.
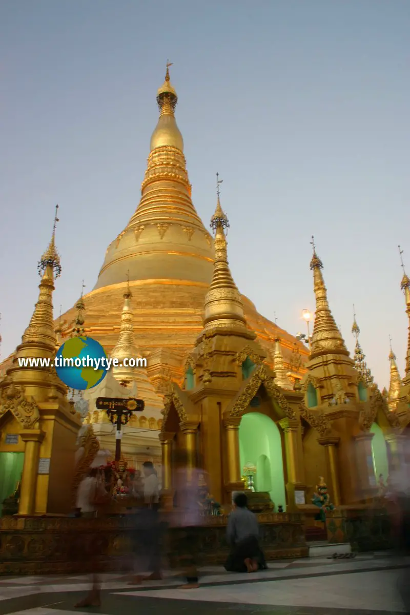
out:
M299 459L299 421L285 418L279 421L279 425L283 429L285 440L286 471L288 474L288 481L286 482L288 510L292 510L295 509L297 504L306 503L306 485L304 485L301 459Z

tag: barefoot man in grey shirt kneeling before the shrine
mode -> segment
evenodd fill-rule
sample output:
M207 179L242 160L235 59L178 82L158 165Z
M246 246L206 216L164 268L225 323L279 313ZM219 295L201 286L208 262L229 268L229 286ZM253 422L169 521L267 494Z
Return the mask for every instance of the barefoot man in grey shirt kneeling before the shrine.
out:
M225 569L231 572L253 573L267 567L259 547L258 519L247 504L245 493L239 493L234 499L234 510L229 515L226 536L231 553Z

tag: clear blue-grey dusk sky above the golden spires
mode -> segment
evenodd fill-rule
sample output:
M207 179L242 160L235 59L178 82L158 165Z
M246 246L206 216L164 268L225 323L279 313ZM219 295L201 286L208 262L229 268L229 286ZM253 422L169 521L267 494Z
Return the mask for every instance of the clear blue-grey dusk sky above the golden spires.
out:
M0 334L14 351L60 205L55 315L92 290L140 199L167 58L192 199L215 173L240 291L290 333L314 311L315 236L336 323L388 386L410 272L408 0L2 0Z

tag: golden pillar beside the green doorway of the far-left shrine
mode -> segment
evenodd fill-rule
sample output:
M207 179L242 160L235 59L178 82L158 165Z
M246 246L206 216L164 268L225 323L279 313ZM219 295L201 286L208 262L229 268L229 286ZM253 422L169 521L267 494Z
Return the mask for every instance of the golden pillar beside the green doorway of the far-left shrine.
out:
M20 490L19 515L33 515L36 501L36 485L39 466L40 445L44 439L41 429L25 429L20 431L25 442L22 486Z

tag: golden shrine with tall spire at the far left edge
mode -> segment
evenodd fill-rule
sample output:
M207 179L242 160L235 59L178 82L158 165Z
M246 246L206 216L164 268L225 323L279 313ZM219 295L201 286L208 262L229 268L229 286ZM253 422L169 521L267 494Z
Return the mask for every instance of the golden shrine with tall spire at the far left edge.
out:
M0 381L0 430L4 435L0 453L12 454L9 472L16 483L21 480L19 515L66 513L71 508L81 420L53 367L57 340L52 295L54 279L61 272L55 248L57 209L58 205L52 239L38 265L42 276L39 298L12 365Z

